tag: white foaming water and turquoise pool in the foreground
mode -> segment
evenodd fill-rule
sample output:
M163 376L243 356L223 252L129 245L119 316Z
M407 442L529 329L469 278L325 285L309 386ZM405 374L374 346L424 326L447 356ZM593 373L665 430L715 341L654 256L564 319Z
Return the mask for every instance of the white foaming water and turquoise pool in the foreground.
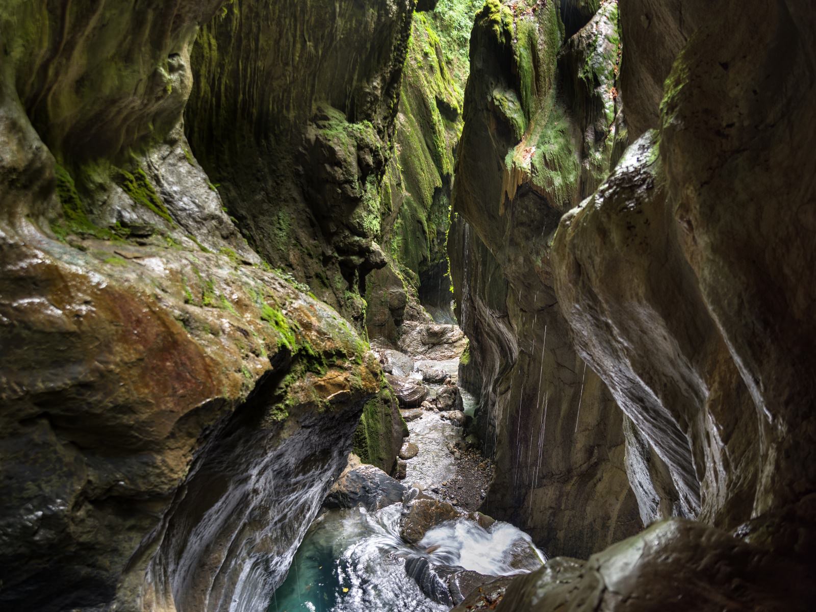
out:
M429 599L406 563L424 559L491 575L520 574L543 563L530 536L503 522L483 529L465 518L448 521L411 546L399 536L401 509L395 503L378 512L324 513L309 528L268 612L442 612L450 605ZM536 555L540 563L531 564Z

